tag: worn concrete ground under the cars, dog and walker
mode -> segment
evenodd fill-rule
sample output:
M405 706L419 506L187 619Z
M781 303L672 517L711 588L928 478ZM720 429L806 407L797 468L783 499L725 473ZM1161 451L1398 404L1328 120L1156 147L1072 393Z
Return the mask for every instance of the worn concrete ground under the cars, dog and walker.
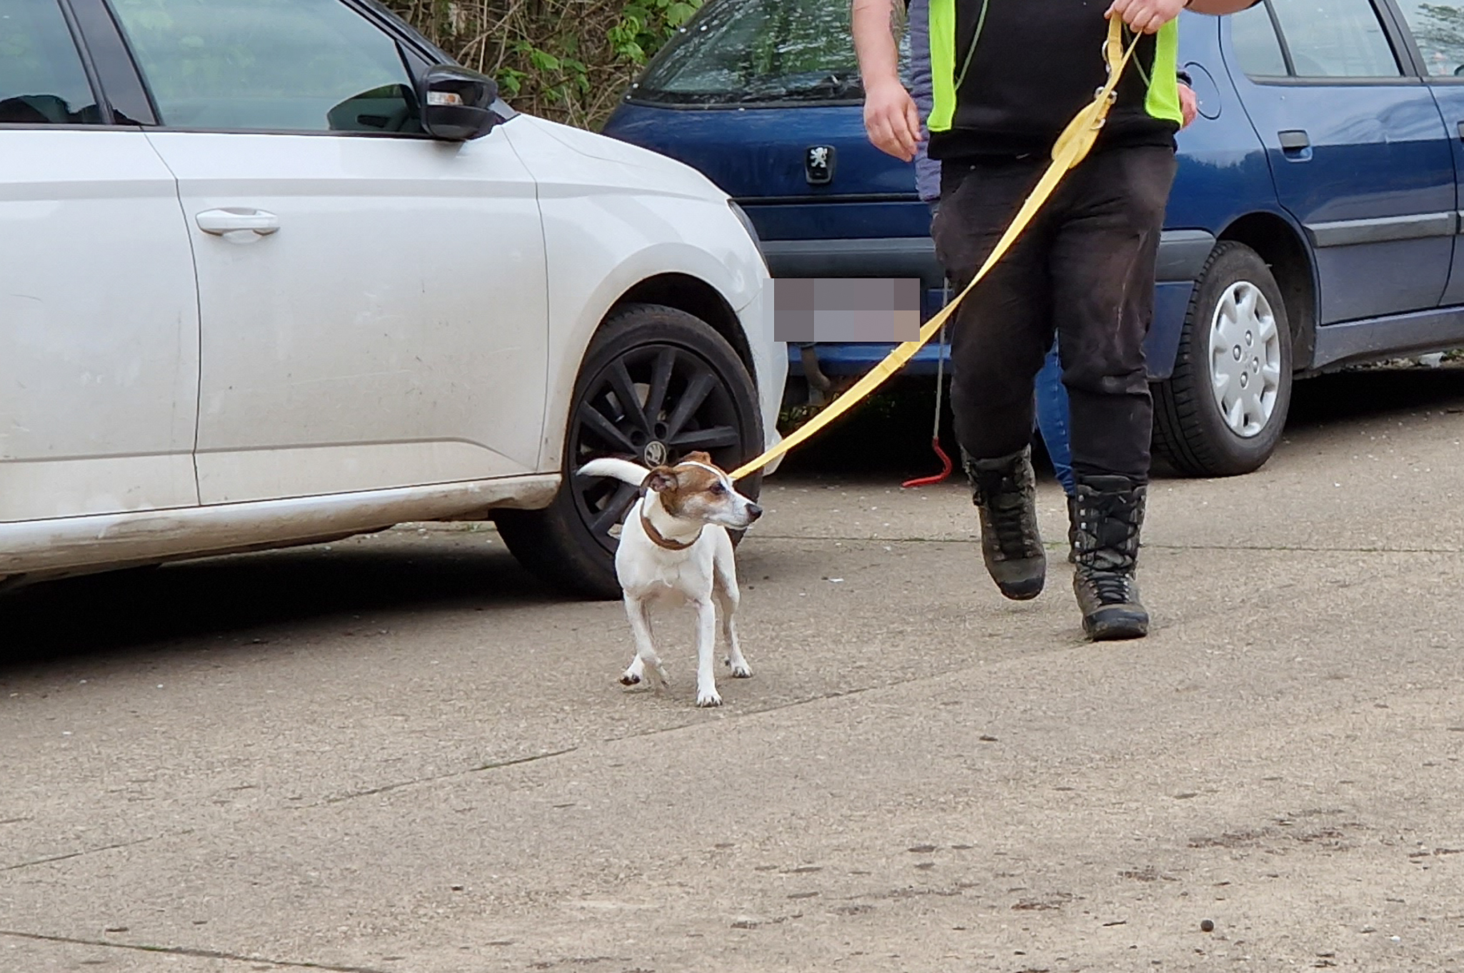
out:
M1017 604L962 487L805 464L710 711L490 530L18 593L0 970L1464 970L1461 439L1460 367L1299 386L1101 647L1051 483Z

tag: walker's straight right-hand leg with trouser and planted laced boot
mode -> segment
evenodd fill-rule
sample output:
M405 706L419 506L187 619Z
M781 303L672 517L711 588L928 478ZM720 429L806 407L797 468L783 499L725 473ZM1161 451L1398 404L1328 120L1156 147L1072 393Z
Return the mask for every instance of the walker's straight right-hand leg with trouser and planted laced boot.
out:
M1135 569L1154 407L1143 338L1174 180L1167 148L1101 151L1069 177L1053 249L1063 382L1072 404L1073 591L1094 639L1139 638L1149 615Z

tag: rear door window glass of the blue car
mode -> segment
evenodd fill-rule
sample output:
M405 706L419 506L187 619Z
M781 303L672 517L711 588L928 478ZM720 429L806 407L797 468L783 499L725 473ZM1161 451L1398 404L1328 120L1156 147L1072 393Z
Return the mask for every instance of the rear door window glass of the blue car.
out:
M1269 0L1299 78L1398 78L1369 0Z

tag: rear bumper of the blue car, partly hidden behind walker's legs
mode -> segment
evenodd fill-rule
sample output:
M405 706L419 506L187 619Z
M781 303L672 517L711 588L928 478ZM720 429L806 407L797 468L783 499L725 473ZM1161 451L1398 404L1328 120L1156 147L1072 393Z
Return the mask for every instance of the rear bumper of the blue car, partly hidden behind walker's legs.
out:
M1151 379L1165 379L1174 370L1195 279L1214 247L1215 236L1203 230L1165 230L1159 240L1154 325L1143 344ZM925 316L941 307L946 272L935 259L935 244L930 237L764 240L763 253L773 277L918 277L927 291ZM818 344L818 364L832 376L862 375L893 347ZM938 354L934 344L921 348L905 366L905 373L934 375ZM802 373L798 348L789 348L789 375Z

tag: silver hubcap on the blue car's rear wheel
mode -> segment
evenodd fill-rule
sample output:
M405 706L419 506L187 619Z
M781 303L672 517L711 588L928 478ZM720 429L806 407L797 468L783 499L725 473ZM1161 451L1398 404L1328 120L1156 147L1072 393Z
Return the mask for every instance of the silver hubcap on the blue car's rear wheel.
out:
M1209 380L1230 432L1261 435L1281 389L1281 335L1271 301L1249 281L1231 284L1209 322Z

